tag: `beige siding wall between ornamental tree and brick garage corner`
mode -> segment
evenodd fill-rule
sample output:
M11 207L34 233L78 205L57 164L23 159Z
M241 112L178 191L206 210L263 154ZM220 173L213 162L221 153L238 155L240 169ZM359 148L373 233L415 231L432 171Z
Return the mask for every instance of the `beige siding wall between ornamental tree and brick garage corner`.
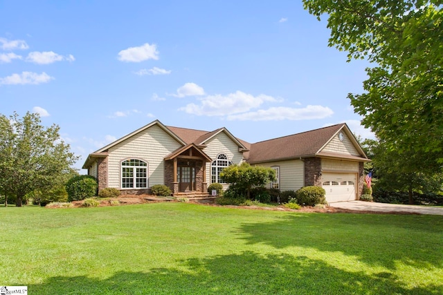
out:
M305 184L305 163L301 160L266 162L254 166L280 167L280 191L296 191Z

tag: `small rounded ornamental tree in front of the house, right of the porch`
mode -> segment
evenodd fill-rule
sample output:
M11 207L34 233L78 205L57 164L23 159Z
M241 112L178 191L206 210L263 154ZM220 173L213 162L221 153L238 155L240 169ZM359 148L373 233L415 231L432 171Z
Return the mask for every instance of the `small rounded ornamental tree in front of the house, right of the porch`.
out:
M246 196L251 199L253 187L264 187L267 183L275 181L275 170L263 166L251 166L243 162L239 165L231 165L223 169L220 177L231 186L246 190Z

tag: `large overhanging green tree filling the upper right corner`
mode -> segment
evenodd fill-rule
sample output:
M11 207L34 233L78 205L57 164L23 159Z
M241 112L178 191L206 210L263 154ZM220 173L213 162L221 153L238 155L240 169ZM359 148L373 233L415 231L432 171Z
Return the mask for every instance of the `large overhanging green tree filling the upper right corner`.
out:
M443 1L303 3L318 19L328 17L329 46L373 65L366 69L365 93L348 95L363 125L391 151L424 154L442 169Z

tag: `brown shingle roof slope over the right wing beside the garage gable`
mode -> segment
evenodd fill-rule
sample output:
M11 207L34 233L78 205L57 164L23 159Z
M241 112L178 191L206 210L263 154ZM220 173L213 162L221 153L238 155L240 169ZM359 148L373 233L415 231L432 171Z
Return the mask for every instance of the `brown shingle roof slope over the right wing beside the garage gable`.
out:
M306 131L251 144L244 156L250 163L283 160L316 155L346 124Z

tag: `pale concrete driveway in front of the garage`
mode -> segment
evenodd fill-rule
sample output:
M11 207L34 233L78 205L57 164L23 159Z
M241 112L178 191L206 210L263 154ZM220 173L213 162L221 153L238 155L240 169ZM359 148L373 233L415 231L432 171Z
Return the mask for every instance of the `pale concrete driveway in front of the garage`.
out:
M398 213L419 213L431 215L443 215L443 207L428 207L404 204L385 204L377 202L349 201L330 203L330 207L348 209L354 211L372 212L398 212Z

